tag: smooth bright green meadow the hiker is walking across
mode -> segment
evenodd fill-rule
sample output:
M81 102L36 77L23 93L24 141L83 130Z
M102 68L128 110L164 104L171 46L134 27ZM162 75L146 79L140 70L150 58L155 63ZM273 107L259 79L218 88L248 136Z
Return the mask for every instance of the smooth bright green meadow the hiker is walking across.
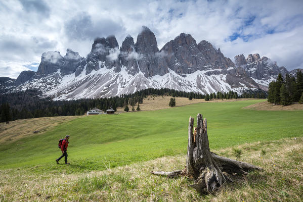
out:
M186 154L189 117L207 119L210 149L303 136L303 111L242 109L264 99L201 103L164 110L80 117L0 145L0 169L83 173ZM58 140L70 135L68 161Z

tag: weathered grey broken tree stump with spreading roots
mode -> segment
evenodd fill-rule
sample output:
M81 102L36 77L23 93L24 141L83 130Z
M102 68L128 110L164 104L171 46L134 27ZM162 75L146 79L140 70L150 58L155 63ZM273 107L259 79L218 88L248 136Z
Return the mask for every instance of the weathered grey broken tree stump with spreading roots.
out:
M177 177L180 175L192 176L194 184L189 185L199 193L211 193L218 190L226 181L232 181L228 174L245 174L250 170L262 170L257 166L220 157L209 150L207 136L207 122L202 115L197 115L197 127L193 133L194 118L190 117L188 126L188 146L185 171L153 171L152 174Z

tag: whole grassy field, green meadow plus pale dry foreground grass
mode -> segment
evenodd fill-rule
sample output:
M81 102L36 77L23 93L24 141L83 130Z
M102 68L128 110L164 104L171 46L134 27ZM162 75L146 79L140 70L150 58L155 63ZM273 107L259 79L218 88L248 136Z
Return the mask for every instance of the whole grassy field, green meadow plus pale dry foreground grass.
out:
M242 109L263 101L80 117L38 134L20 133L14 141L0 142L0 201L300 201L303 111ZM184 168L188 119L197 113L207 118L212 151L235 159L238 149L241 161L265 171L239 177L208 196L188 188L189 179L150 175ZM62 160L57 165L58 140L66 134L71 165Z

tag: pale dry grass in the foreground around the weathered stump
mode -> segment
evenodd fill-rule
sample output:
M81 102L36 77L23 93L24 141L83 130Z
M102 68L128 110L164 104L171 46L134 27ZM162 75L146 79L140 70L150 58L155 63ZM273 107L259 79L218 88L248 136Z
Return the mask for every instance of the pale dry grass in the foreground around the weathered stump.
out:
M302 201L303 138L255 142L216 150L264 168L247 176L231 176L217 193L199 195L191 179L150 174L152 170L181 170L186 156L163 157L100 172L82 174L32 173L0 170L0 201ZM264 151L266 152L264 152Z

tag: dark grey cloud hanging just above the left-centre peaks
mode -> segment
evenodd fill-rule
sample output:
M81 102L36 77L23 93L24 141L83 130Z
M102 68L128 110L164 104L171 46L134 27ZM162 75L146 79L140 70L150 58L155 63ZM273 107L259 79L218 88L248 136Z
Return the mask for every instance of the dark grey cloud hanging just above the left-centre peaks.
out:
M93 22L90 15L76 15L64 25L65 33L70 39L91 40L98 36L108 36L120 33L123 27L107 18Z

